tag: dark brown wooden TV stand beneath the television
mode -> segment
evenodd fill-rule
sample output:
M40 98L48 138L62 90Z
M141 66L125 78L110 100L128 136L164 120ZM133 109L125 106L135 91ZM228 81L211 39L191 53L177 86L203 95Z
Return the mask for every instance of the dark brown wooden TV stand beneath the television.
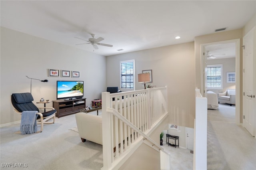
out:
M80 112L81 109L86 107L86 98L74 99L74 100L54 100L53 107L56 109L56 117L64 117Z

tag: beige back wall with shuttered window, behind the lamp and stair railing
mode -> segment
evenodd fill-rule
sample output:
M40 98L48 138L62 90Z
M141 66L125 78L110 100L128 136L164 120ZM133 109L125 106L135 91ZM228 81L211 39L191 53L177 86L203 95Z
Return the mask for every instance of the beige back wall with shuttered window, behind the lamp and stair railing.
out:
M195 63L194 42L134 51L108 56L107 86L120 87L120 61L135 60L135 89L143 89L137 83L137 74L152 69L152 85L168 86L170 124L194 127L195 118ZM160 134L160 133L159 133Z

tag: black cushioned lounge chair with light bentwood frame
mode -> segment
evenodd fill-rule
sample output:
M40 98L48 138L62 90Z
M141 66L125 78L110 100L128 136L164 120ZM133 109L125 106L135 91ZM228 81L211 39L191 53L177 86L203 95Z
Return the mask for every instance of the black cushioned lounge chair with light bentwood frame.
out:
M44 124L51 124L55 122L56 110L53 107L36 107L32 101L34 101L31 93L13 93L11 96L12 105L16 113L22 114L23 111L38 111L37 122L41 124L41 130L43 130ZM40 113L39 109L51 109L50 111ZM48 120L53 119L53 121L48 122Z

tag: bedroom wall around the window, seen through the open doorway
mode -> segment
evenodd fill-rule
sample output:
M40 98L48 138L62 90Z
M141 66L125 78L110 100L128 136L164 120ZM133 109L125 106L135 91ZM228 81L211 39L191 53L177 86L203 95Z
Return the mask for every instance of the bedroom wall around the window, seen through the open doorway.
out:
M236 83L227 83L226 81L226 73L227 72L235 72L236 69L236 58L225 58L225 59L210 59L207 60L207 65L216 65L222 64L223 69L223 89L208 89L209 91L213 91L214 93L222 93L226 91L226 89L236 89Z

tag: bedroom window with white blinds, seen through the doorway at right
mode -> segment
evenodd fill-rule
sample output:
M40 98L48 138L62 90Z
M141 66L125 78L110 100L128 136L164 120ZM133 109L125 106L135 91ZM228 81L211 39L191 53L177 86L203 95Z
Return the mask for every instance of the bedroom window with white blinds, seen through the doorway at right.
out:
M222 89L222 64L207 65L207 88Z

